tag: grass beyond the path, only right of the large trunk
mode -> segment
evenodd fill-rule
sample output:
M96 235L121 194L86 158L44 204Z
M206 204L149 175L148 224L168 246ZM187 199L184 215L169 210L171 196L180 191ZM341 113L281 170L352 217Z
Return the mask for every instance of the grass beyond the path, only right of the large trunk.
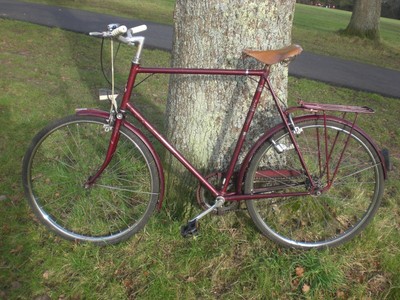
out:
M293 41L309 52L400 70L400 21L381 18L381 42L344 36L351 12L296 5Z

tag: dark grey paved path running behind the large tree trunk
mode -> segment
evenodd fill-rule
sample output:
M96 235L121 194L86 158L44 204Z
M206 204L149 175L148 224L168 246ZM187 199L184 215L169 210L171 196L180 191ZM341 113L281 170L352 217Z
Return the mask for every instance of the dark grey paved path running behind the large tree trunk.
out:
M16 0L0 0L0 18L60 27L81 33L102 30L109 23L120 23L128 27L145 23L148 26L145 46L163 50L172 48L172 27L148 21ZM290 64L289 73L297 77L400 98L400 72L368 64L303 52Z

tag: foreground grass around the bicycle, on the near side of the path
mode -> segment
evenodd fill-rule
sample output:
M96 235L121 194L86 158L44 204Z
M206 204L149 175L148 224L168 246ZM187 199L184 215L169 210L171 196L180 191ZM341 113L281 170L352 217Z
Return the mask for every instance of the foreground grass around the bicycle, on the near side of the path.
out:
M292 100L376 108L359 124L392 150L396 169L382 207L360 237L340 248L282 249L263 238L244 212L207 217L198 238L182 239L184 221L172 218L168 205L125 243L74 244L35 222L23 196L20 164L30 139L49 120L76 107L108 109L95 99L105 85L100 45L60 29L1 19L0 25L0 299L400 297L398 99L290 78ZM121 48L119 74L126 72L128 59L129 50ZM148 65L165 66L169 60L161 51L144 53ZM162 129L168 78L149 80L137 90L137 103Z

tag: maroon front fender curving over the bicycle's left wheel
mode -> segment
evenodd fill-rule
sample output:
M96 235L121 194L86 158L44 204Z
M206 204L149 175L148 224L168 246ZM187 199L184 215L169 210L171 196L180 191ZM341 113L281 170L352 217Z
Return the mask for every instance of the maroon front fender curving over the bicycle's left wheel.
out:
M100 117L104 119L108 119L110 116L109 112L99 110L99 109L87 109L87 108L82 108L82 109L77 109L76 114L79 116L94 116L94 117ZM164 180L164 170L162 167L161 159L157 153L157 151L154 149L153 144L149 141L149 139L142 133L140 129L132 125L130 122L124 120L122 122L122 126L127 128L129 131L133 132L140 140L146 145L146 147L149 149L151 155L154 158L154 161L156 163L158 175L160 178L160 195L158 199L158 204L157 204L157 209L160 210L162 207L162 203L164 200L164 193L165 193L165 180Z

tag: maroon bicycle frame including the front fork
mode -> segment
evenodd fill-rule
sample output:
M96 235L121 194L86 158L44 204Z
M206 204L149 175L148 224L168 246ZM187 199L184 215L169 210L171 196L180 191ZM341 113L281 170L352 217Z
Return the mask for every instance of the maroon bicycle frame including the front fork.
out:
M268 67L265 69L259 70L241 70L241 69L192 69L192 68L145 68L141 67L139 64L133 63L130 69L128 81L125 87L125 92L122 98L122 102L120 104L120 111L117 114L117 118L114 123L113 133L110 140L110 145L108 148L108 152L105 158L103 165L100 167L98 172L91 176L86 186L89 187L90 185L94 184L96 179L101 175L104 169L107 167L109 162L112 159L112 156L117 148L118 140L119 140L119 129L123 125L124 120L124 113L129 111L143 126L148 130L193 176L195 176L199 182L207 188L214 197L223 196L226 201L241 201L241 200L250 200L250 199L262 199L262 198L275 198L275 197L287 197L287 196L302 196L302 195L309 195L313 191L314 182L311 178L311 175L308 172L307 166L304 162L304 159L301 155L299 147L296 143L294 134L292 130L290 130L290 125L288 123L287 117L285 112L282 110L281 106L279 105L278 98L275 95L271 82L268 78L270 70ZM256 91L254 93L250 108L248 110L246 119L244 121L243 127L241 129L241 133L238 137L231 161L228 166L228 170L225 174L225 181L222 186L221 190L217 190L212 184L210 184L207 179L200 174L200 172L174 147L172 146L161 134L160 132L154 128L151 123L134 107L134 105L130 102L130 97L132 95L132 90L135 85L136 76L138 74L183 74L183 75L222 75L222 76L256 76L259 78L258 85ZM283 120L285 127L288 129L290 138L295 146L295 149L299 155L300 162L304 168L305 174L307 175L310 184L311 190L307 192L292 192L292 193L269 193L269 194L256 194L256 195L245 195L242 194L239 189L236 189L234 193L227 193L229 182L234 174L235 165L238 161L241 149L245 142L246 134L250 128L251 122L253 120L254 114L256 112L257 106L260 101L260 97L264 88L267 88L272 98L276 104L277 110ZM133 126L132 126L133 127ZM130 128L132 129L132 128ZM156 158L158 160L158 158ZM161 165L160 161L156 162L158 166ZM242 172L243 173L243 172ZM163 180L163 179L162 179ZM162 182L162 186L164 186L164 182ZM163 193L163 190L162 190ZM162 197L162 196L161 196ZM162 201L162 200L161 200ZM161 206L161 204L160 204Z

